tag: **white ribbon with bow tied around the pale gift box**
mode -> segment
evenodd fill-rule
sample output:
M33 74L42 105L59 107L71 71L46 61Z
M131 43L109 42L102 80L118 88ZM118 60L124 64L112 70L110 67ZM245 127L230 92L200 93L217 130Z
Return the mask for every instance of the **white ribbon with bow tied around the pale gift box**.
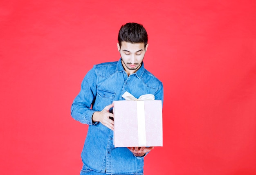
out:
M124 92L122 97L126 100L137 101L137 122L138 122L138 146L146 146L146 124L145 124L145 109L144 101L145 100L154 100L155 96L153 94L141 95L139 99L136 99L129 92Z

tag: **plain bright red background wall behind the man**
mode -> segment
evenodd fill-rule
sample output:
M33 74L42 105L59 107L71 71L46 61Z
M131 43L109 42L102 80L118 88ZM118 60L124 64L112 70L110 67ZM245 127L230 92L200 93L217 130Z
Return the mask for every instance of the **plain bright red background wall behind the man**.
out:
M1 0L0 173L79 174L88 126L70 106L92 65L119 59L126 22L148 31L164 83L145 175L255 175L254 0Z

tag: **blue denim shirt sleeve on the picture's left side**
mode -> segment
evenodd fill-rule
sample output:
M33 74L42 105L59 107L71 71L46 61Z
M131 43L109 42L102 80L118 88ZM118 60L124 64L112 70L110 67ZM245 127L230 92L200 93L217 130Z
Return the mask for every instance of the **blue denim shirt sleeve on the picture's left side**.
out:
M92 103L97 94L97 75L92 68L84 77L81 83L81 90L74 99L71 106L71 116L84 124L92 125L92 115L95 112L91 109Z

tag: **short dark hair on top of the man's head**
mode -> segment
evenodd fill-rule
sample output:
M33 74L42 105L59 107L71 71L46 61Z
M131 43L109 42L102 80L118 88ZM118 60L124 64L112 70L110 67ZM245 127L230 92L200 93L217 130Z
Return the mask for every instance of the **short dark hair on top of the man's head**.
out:
M144 43L146 47L148 43L148 34L143 25L129 22L122 25L118 33L118 43L121 47L121 42L126 41L129 43Z

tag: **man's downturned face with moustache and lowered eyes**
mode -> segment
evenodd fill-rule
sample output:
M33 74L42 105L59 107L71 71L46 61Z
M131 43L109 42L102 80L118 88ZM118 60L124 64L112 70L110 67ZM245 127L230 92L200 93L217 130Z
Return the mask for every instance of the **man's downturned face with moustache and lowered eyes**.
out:
M147 48L148 44L145 48L144 43L129 43L122 41L121 48L119 43L117 43L117 49L120 52L122 64L128 76L139 69Z

